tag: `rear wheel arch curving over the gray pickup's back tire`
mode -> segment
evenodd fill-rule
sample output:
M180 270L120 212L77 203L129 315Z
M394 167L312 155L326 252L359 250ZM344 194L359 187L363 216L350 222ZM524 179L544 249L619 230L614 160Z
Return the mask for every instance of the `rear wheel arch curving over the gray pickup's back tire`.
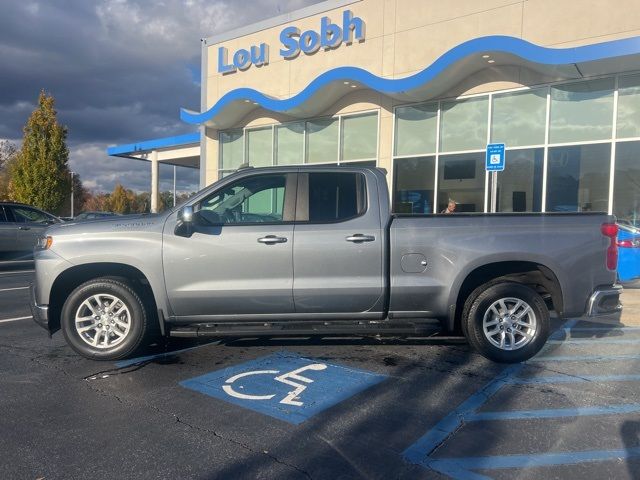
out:
M502 278L532 287L548 300L551 309L559 316L563 315L562 285L551 268L536 261L499 261L477 266L460 282L449 302L448 329L454 331L460 327L464 302L471 292L484 283Z

